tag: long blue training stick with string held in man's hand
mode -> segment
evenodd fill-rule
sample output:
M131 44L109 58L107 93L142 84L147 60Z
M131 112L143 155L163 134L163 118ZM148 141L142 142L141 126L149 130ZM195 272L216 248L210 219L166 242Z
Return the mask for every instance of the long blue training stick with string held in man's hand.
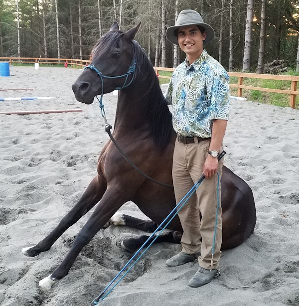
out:
M219 156L218 160L220 160L224 155L226 154L225 151L223 151ZM214 241L213 241L213 249L212 249L212 259L214 254L214 246L215 246L215 237L216 237L216 229L217 229L217 218L218 218L218 210L220 206L219 201L219 174L218 175L218 184L217 184L217 213L216 213L216 221L215 221L215 231L214 231ZM121 282L121 280L126 276L126 274L136 265L136 263L140 260L140 258L146 253L146 251L149 249L149 247L154 243L154 241L159 237L159 235L163 232L163 230L168 226L168 224L173 220L173 218L177 215L177 213L182 209L182 207L186 204L186 202L190 199L190 197L194 194L196 189L199 187L199 185L204 180L205 176L202 175L199 180L194 184L194 186L187 192L187 194L180 200L180 202L172 209L172 211L168 214L168 216L163 220L163 222L155 229L155 231L149 236L147 241L139 248L139 250L133 255L133 257L128 261L128 263L124 266L124 268L116 275L116 277L110 282L110 284L103 290L103 292L95 298L91 305L98 305L100 303L100 300L103 301L110 293L113 291L113 289ZM183 203L182 203L183 202ZM173 214L174 213L174 214ZM171 219L167 222L168 218L173 214ZM143 251L143 253L138 257L138 259L133 263L129 269L124 273L124 275L120 278L120 280L106 293L106 291L111 287L111 285L114 283L114 281L121 275L122 272L129 266L129 264L133 261L133 259L137 256L137 254L146 246L146 244L149 242L149 240L154 236L154 234L162 227L162 225L167 222L166 225L161 229L161 231L155 236L155 238L152 240L152 242L149 244L149 246ZM106 294L105 294L106 293Z

